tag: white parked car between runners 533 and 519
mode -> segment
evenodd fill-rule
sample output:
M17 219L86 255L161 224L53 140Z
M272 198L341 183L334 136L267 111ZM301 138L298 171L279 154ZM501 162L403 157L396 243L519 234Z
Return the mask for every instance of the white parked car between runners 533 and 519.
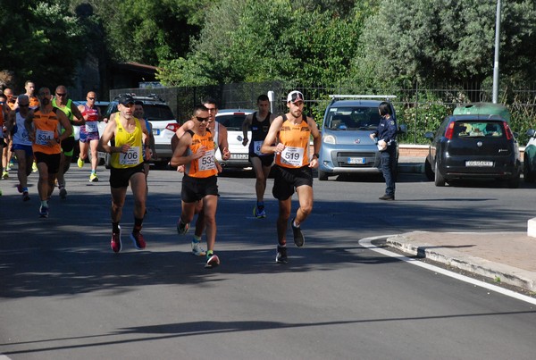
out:
M229 142L230 159L222 160L220 151L216 152L216 160L222 164L223 168L248 168L251 167L249 162L249 145L244 147L244 133L242 132L242 123L246 116L254 113L255 110L243 109L222 109L216 113L216 121L227 128L227 141ZM247 131L247 138L251 138L251 130Z

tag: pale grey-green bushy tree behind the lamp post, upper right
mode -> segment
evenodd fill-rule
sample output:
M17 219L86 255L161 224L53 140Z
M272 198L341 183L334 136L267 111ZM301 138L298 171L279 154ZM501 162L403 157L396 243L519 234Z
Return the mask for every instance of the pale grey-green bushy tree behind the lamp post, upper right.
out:
M536 79L531 0L503 2L501 73ZM493 71L496 0L384 0L366 21L354 73L373 78L482 83ZM532 46L529 46L531 45Z

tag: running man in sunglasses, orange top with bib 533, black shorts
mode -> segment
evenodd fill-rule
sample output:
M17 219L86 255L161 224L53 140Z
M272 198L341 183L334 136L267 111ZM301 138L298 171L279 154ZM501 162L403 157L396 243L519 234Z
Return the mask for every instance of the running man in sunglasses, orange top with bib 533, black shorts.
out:
M180 235L186 234L189 223L196 214L196 205L202 201L202 211L197 217L205 218L206 246L205 253L199 247L199 242L192 242L194 255L206 255L206 268L213 268L220 264L220 259L214 254L216 242L216 208L218 205L218 185L214 159L214 138L207 130L209 120L208 109L205 105L194 108L194 127L180 137L179 143L173 152L172 166L186 165L182 178L180 191L181 207L177 231Z

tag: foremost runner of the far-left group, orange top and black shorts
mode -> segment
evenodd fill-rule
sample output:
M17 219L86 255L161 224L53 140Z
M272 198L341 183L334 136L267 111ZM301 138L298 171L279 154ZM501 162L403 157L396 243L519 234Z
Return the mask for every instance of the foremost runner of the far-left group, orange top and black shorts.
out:
M32 149L38 163L38 192L41 198L39 216L48 217L48 198L54 190L54 180L60 172L61 142L71 136L71 124L64 113L54 111L49 88L40 88L38 92L39 108L29 112L24 121ZM60 134L60 127L67 129Z

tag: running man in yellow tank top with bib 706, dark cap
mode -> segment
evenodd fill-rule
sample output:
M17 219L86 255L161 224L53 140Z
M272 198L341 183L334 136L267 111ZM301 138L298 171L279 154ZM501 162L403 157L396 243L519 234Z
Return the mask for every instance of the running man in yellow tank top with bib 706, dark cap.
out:
M146 178L143 166L142 147L146 147L146 159L149 159L149 133L145 121L133 116L134 99L128 94L119 96L118 113L113 115L106 125L98 142L98 150L112 154L110 168L110 189L112 192L112 240L110 246L114 253L119 253L121 243L122 207L127 196L127 188L134 196L134 229L130 239L138 250L146 247L141 234L146 209ZM115 138L111 147L108 143Z

